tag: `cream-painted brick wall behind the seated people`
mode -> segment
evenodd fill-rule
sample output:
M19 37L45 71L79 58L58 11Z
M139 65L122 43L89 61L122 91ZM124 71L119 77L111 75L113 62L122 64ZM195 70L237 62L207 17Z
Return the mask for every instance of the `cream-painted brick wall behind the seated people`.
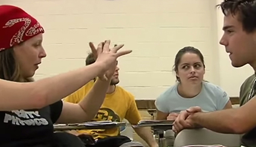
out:
M217 0L218 1L218 0ZM87 43L110 39L132 49L119 59L120 86L137 99L155 99L175 82L174 56L195 46L205 57L205 79L238 96L251 68L231 67L218 45L222 16L213 0L8 0L35 16L46 32L47 58L36 79L84 66ZM220 12L220 10L218 10ZM86 73L85 73L86 74ZM237 78L235 81L234 78Z

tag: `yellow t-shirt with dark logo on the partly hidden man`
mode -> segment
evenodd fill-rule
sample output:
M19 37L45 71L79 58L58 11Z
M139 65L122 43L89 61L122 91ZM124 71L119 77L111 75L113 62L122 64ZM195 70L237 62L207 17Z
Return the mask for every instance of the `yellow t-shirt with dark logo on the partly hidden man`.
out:
M87 85L78 89L78 91L64 98L64 101L79 103L79 101L89 93L93 84L94 82L90 81ZM141 120L134 96L120 86L116 86L116 89L112 94L106 94L101 109L99 109L93 121L122 122L123 118L127 119L130 124L137 124ZM119 128L105 130L78 130L78 133L88 133L91 134L94 139L98 139L117 136L120 134L120 130Z

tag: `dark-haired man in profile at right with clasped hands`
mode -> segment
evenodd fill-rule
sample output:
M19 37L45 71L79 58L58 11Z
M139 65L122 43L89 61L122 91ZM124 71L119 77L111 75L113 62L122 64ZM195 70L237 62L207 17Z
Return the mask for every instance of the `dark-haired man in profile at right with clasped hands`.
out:
M224 14L220 44L225 46L231 64L233 67L249 64L256 72L256 0L225 0L217 6ZM256 79L251 83L242 107L215 112L190 107L180 112L173 123L173 131L178 133L184 128L200 126L219 133L245 134L242 145L256 146Z

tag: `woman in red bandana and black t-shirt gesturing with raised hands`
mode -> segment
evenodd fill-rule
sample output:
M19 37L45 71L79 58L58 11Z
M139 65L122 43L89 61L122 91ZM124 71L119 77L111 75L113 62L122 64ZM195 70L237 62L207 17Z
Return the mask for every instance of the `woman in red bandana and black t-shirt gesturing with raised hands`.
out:
M116 59L131 50L109 49L110 41L92 52L95 64L33 82L46 53L44 29L30 14L11 5L0 5L0 146L84 146L72 134L54 133L54 123L91 120L105 98ZM61 101L94 77L100 78L79 104ZM110 78L108 78L110 77Z

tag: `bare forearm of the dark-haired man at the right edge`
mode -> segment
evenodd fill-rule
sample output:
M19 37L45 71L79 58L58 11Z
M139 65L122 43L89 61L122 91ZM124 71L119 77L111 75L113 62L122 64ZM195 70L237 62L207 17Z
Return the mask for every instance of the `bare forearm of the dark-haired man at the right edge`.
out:
M256 98L254 97L237 109L193 113L187 118L187 122L219 133L243 134L256 126L255 110Z

